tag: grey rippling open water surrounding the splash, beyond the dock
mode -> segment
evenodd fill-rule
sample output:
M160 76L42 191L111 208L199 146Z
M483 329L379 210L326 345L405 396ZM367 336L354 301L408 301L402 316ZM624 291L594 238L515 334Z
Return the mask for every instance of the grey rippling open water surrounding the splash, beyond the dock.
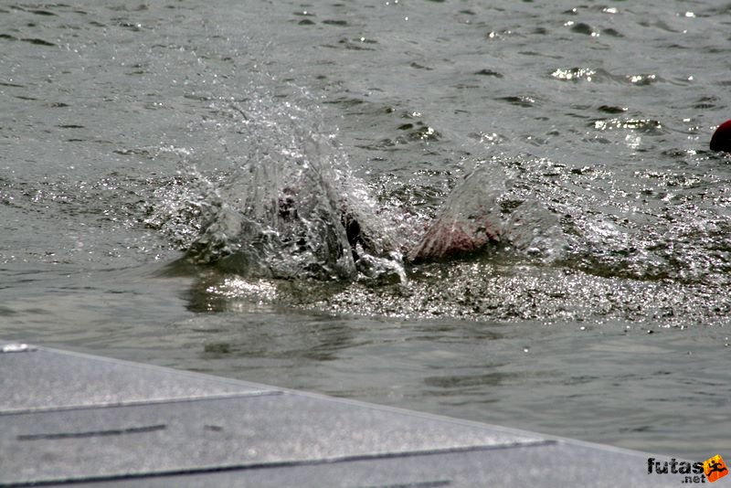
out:
M723 2L4 3L0 337L731 451L729 27ZM297 157L405 248L477 167L508 239L405 283L171 264Z

